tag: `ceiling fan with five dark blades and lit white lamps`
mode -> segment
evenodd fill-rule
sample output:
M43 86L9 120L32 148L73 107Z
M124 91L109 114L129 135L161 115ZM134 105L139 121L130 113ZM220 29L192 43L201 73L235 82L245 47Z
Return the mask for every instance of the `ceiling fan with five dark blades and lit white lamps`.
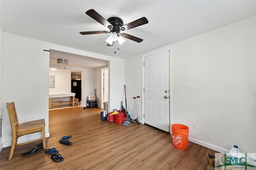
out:
M135 20L123 25L124 23L121 18L111 17L111 18L108 18L108 20L106 20L100 14L98 14L98 12L96 12L93 9L86 11L86 14L90 16L92 19L98 21L99 23L107 27L110 31L84 31L84 32L80 32L80 34L82 35L111 33L108 39L106 39L106 42L108 43L107 46L112 46L115 41L118 41L119 44L121 45L125 41L123 37L130 39L132 41L136 41L138 43L143 41L143 39L140 39L138 37L135 37L127 33L120 33L120 31L125 31L125 30L132 29L134 27L138 27L140 25L144 25L148 23L148 20L145 17L142 17L138 20Z

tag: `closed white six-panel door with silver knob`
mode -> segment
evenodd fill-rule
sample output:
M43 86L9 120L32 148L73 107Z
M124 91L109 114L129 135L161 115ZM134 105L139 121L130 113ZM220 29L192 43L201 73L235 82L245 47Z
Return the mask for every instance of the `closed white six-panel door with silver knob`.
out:
M169 132L169 50L144 57L144 123Z

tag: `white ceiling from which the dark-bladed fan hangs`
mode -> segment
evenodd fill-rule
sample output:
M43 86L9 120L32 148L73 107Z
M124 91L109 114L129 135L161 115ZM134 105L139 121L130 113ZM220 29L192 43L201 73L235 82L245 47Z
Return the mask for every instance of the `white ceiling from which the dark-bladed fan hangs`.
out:
M256 15L255 0L1 0L1 27L6 33L75 49L127 58L169 45ZM80 31L108 31L85 14L94 9L105 19L124 24L146 17L148 24L125 32L130 39L107 47L109 34L81 35ZM114 53L116 51L116 53ZM51 61L56 59L52 56ZM76 58L78 57L78 58ZM88 56L90 57L90 56ZM58 57L57 57L58 58ZM64 57L63 57L64 58ZM80 56L78 63L82 63ZM74 59L74 57L73 57ZM69 59L72 63L72 57Z

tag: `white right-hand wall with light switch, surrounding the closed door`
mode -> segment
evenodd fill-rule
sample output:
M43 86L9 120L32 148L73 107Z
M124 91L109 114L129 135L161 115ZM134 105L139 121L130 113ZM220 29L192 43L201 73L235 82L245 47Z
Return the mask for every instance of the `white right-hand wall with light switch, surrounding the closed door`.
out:
M190 141L219 152L233 145L256 152L255 30L254 16L170 45L172 123L187 125ZM141 77L127 71L138 58L126 59L131 92L141 89L131 83Z

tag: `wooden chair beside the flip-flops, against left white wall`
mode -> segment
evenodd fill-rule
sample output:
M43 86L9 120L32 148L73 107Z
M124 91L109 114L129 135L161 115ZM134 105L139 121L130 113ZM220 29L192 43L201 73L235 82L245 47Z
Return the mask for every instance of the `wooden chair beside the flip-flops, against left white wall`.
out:
M29 122L19 124L14 102L7 103L6 106L8 109L8 113L9 113L9 117L12 125L12 146L11 146L8 160L12 159L12 154L14 152L15 146L25 145L28 143L32 143L34 141L43 140L43 147L44 149L46 149L44 119L39 119L39 120L34 120L34 121L29 121ZM28 135L31 133L36 133L36 132L42 132L42 138L24 142L24 143L17 143L19 137L23 135Z

